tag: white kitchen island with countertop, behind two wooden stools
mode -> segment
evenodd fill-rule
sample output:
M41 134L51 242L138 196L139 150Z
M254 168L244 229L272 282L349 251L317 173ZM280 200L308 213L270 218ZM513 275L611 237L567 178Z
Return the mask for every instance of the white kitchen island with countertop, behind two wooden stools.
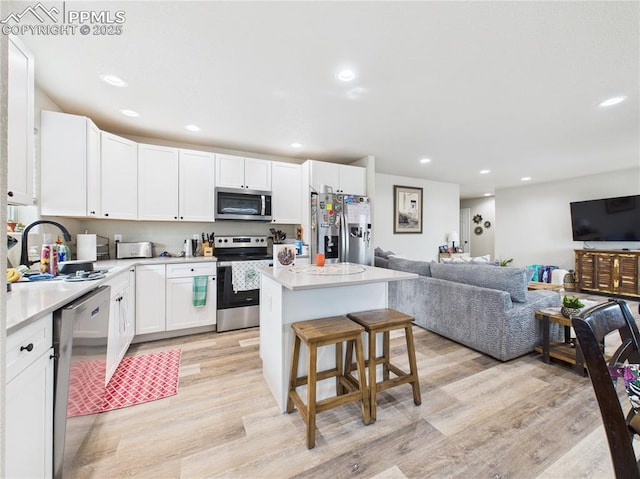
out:
M262 371L278 407L287 407L291 323L387 307L387 284L418 275L352 263L272 267L261 270L260 357ZM380 339L381 341L381 339ZM364 342L366 346L366 341ZM306 356L303 345L301 357ZM335 367L335 348L318 351L318 368ZM301 361L300 373L306 373ZM335 394L335 382L318 384L317 397Z

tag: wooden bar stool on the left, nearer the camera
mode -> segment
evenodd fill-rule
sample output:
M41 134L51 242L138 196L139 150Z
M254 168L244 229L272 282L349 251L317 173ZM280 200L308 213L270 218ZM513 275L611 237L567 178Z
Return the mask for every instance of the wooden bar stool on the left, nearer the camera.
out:
M369 395L367 388L351 388L347 391L347 381L344 378L342 342L346 341L353 351L356 346L356 362L360 383L366 384L364 352L362 349L362 332L364 328L345 316L299 321L291 324L295 333L293 354L291 356L291 372L289 375L289 393L287 395L287 412L293 412L293 406L298 409L300 416L307 425L307 448L316 445L316 414L333 409L343 404L360 401L362 422L371 422ZM298 360L300 358L300 343L304 341L308 348L307 376L298 377ZM318 348L335 344L336 367L325 371L317 371ZM316 384L324 379L336 378L336 396L316 400ZM299 386L307 385L307 403L296 391Z

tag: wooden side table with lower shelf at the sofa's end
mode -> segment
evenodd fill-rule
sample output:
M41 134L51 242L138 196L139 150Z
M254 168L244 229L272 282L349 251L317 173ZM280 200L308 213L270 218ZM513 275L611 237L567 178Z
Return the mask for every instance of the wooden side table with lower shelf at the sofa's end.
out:
M546 308L536 311L536 319L542 321L542 344L535 350L542 353L542 360L550 363L551 358L573 364L576 373L584 375L585 365L582 350L577 341L571 341L571 320L560 314L560 308ZM549 326L560 324L564 328L564 341L551 341Z

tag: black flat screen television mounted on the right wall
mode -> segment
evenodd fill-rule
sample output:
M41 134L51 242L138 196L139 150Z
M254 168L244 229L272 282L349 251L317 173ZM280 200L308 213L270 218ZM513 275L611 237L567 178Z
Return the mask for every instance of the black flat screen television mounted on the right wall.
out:
M640 241L640 195L575 201L573 241Z

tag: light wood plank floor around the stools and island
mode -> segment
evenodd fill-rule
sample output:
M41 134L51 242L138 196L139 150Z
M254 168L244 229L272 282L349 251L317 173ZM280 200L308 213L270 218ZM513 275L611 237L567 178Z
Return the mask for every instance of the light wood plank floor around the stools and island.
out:
M372 425L355 404L322 413L312 450L262 379L257 328L134 345L129 354L182 349L178 394L101 414L67 477L613 477L587 377L414 334L422 405L403 385L379 394Z

